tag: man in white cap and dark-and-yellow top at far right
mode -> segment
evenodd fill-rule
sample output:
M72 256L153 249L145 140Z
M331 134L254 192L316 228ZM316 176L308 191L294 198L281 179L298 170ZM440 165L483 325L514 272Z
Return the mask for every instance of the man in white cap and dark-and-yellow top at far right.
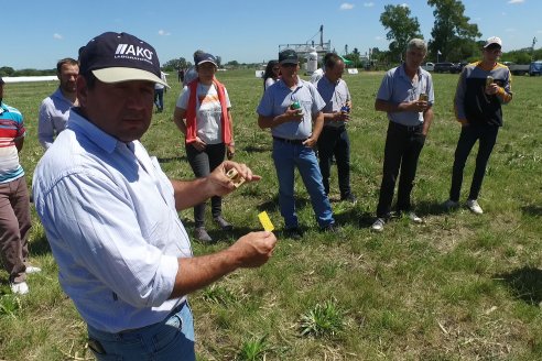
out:
M501 105L512 100L510 69L497 63L501 46L499 37L489 37L481 51L481 61L466 65L459 77L454 107L462 132L455 150L449 199L444 203L446 209L459 206L465 162L476 141L479 141L467 208L476 215L484 212L478 204L481 182L497 133L502 127Z

